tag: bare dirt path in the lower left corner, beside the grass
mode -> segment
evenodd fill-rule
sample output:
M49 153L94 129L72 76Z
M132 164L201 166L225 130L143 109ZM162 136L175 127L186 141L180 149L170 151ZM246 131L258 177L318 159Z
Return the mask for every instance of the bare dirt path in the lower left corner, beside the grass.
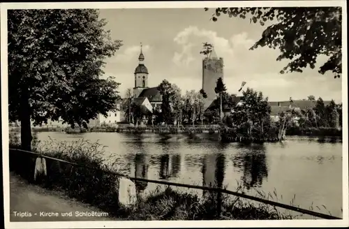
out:
M71 216L62 216L70 213ZM92 216L101 214L100 216ZM77 214L81 214L78 216ZM85 216L84 216L84 215ZM89 214L89 216L86 216ZM105 212L10 174L10 221L111 221Z

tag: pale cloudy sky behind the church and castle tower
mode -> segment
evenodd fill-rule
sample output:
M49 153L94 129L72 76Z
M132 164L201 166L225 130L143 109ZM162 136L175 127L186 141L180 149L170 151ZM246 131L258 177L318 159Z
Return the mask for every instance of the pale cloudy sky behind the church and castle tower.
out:
M114 76L121 83L122 97L126 89L134 87L134 71L138 66L140 43L149 71L149 87L156 87L166 79L181 89L200 90L202 87L203 42L215 47L224 59L224 83L229 93L241 95L243 81L269 98L269 101L303 99L309 95L324 100L342 101L341 79L332 73L321 75L318 67L326 59L320 57L317 68L303 73L279 72L288 61L276 61L279 50L259 47L248 50L260 39L265 27L250 24L249 20L222 15L217 22L210 20L213 11L203 8L142 8L103 9L100 17L107 20L105 29L123 45L113 57L106 59L103 69L107 77Z

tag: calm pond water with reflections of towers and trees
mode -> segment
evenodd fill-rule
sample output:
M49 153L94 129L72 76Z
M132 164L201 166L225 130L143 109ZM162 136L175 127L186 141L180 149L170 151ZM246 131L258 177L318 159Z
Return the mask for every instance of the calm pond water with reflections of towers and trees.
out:
M256 195L257 190L272 193L274 200L285 204L295 198L293 202L299 207L309 209L313 205L316 212L342 216L342 143L288 138L283 143L244 146L222 145L209 140L206 134L190 138L155 133L59 132L38 133L38 140L48 140L49 136L59 141L98 140L107 146L105 156L117 158L118 168L132 177L214 184L232 191L239 183L251 195ZM146 195L157 186L143 184L138 189ZM202 195L202 191L189 192Z

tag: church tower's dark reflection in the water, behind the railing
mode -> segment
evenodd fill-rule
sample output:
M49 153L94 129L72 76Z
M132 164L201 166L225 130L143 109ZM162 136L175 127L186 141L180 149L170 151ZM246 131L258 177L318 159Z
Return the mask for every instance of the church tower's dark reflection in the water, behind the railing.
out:
M147 156L145 154L135 154L135 177L148 179L148 168ZM135 182L136 191L142 192L147 188L147 182Z

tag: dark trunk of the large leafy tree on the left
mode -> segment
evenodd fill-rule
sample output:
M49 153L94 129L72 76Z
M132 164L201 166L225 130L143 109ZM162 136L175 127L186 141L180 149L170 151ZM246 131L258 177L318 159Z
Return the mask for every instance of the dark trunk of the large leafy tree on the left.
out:
M31 151L31 125L30 125L30 105L29 89L22 87L20 99L20 121L21 121L21 143L22 149Z

